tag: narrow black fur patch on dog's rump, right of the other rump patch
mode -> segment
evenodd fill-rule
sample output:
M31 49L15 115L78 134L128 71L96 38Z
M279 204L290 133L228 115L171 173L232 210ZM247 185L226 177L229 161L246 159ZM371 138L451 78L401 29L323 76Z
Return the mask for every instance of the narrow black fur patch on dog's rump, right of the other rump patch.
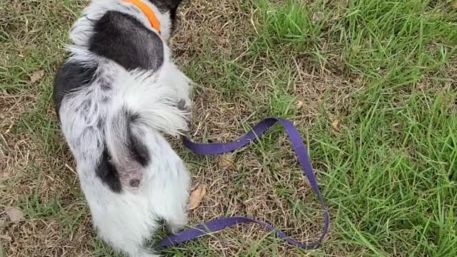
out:
M134 133L131 131L131 126L136 122L136 120L139 118L138 114L131 114L131 111L124 110L125 114L128 118L127 121L127 138L129 141L129 152L131 154L131 157L134 158L135 161L141 164L141 166L147 166L150 159L149 159L149 150L148 148L144 145L143 142L141 142L141 138L138 138L138 136L134 136Z

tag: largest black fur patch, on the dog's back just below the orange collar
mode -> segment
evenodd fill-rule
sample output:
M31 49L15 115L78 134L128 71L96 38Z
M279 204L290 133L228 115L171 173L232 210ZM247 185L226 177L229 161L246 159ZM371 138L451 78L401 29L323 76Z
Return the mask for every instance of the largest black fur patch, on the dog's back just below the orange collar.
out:
M94 24L89 50L127 70L156 71L164 64L160 37L129 14L108 11Z

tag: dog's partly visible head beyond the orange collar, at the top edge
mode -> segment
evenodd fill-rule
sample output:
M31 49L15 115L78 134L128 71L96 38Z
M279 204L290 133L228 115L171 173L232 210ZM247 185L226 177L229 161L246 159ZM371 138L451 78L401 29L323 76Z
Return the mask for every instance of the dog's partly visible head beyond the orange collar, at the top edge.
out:
M166 14L168 21L161 21L161 33L164 38L168 39L174 34L176 29L176 11L182 0L148 0L161 12Z

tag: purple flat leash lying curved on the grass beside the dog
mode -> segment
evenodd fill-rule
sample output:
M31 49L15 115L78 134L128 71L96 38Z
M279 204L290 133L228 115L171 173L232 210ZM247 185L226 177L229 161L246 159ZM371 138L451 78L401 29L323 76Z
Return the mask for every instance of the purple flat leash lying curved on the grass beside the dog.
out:
M260 123L258 123L254 128L246 133L246 135L241 136L236 141L231 143L194 143L189 140L189 138L184 137L184 146L189 148L195 154L204 155L204 154L221 154L221 153L228 153L234 151L238 148L242 148L246 146L248 143L255 141L261 136L263 133L268 131L276 122L279 122L288 134L288 137L291 139L291 144L293 147L293 151L295 151L296 156L298 158L298 163L300 163L301 169L303 170L303 175L308 178L308 181L313 188L314 193L318 197L319 201L321 202L322 211L323 211L323 231L321 236L319 236L317 241L311 243L299 243L294 241L292 238L286 236L285 233L276 230L273 226L263 221L257 221L253 218L248 217L224 217L224 218L216 218L213 221L209 221L194 228L189 228L184 231L180 231L174 235L167 236L166 238L162 239L159 242L159 246L168 247L168 246L175 246L179 243L184 243L186 241L191 241L195 238L199 238L200 236L204 236L208 233L221 231L224 228L229 226L233 226L236 224L241 223L257 223L266 228L268 231L274 231L276 236L286 241L291 246L298 246L300 248L316 248L321 244L321 241L326 236L328 232L328 225L330 223L330 218L328 216L328 211L326 204L323 201L321 191L319 191L318 184L316 182L316 177L314 176L313 167L311 166L311 162L308 158L308 153L306 151L306 147L303 144L301 139L300 133L296 130L295 126L290 121L281 118L268 118L264 119Z

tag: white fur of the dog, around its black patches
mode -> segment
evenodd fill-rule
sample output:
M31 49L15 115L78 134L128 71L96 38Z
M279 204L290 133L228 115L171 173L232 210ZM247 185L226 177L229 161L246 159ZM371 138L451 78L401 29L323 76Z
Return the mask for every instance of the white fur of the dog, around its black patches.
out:
M161 36L168 39L168 16L160 14L148 1L145 3L156 11ZM74 45L67 47L69 59L88 66L98 64L96 73L99 78L112 81L112 90L102 90L101 79L96 79L90 86L65 96L59 109L61 129L76 159L81 188L99 236L131 257L151 257L156 255L142 244L159 228L158 219L165 218L171 231L177 231L187 221L189 173L162 133L176 136L187 130L186 116L174 103L180 99L191 103L190 81L171 62L166 44L164 64L154 74L126 71L114 61L91 53L87 49L92 28L89 20L99 19L108 10L134 15L150 28L144 15L119 0L96 0L84 10L70 34ZM81 110L81 104L88 100L89 108ZM126 187L121 193L114 193L96 176L95 168L104 141L110 153L116 152L116 131L111 119L122 106L141 114L141 125L134 128L134 133L141 135L151 161L141 168L138 188ZM103 126L100 121L104 121Z

